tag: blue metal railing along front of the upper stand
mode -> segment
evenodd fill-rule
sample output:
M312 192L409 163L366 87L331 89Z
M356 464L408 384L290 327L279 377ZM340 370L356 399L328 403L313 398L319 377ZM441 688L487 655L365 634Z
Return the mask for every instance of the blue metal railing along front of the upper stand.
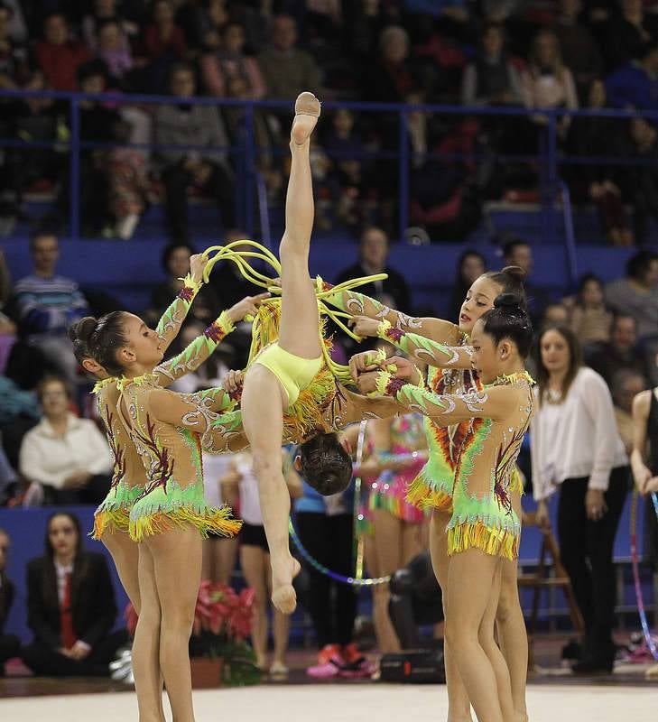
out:
M80 210L80 177L79 177L79 160L80 152L90 148L126 146L131 145L135 148L149 148L151 150L158 149L177 149L177 150L199 150L199 146L195 145L163 145L159 143L149 143L148 145L139 145L136 143L89 143L80 140L80 102L85 100L95 100L104 104L113 106L134 106L134 105L161 105L180 102L180 98L171 96L154 96L154 95L118 95L113 93L105 93L101 95L56 92L56 91L22 91L22 90L3 90L0 91L0 98L52 98L54 100L66 101L70 106L70 237L78 239L80 236L79 227L79 210ZM261 100L261 101L245 101L229 98L217 97L190 97L186 101L203 106L227 106L241 107L245 110L245 116L242 124L243 133L236 143L228 147L226 150L236 160L238 168L237 178L238 187L236 188L236 203L240 210L239 217L242 219L242 225L246 228L247 233L254 231L253 224L255 218L255 194L259 193L258 198L264 198L263 189L259 188L256 170L256 161L259 153L281 153L281 149L277 148L258 148L255 143L255 110L259 108L274 109L279 111L292 112L291 103L289 101ZM397 149L393 152L390 149L383 151L364 151L364 158L391 159L398 162L398 227L399 237L403 238L404 230L409 226L409 208L411 196L411 159L412 150L410 148L409 139L409 114L411 112L420 111L427 113L435 113L443 116L536 116L541 113L546 118L546 125L540 129L540 148L536 156L514 155L514 156L498 156L498 159L505 157L505 160L514 160L516 162L527 162L528 160L539 160L541 163L540 172L540 191L542 199L542 235L544 239L555 237L558 223L558 211L555 208L555 199L563 190L559 177L560 165L596 165L598 163L610 164L644 164L651 161L643 159L625 159L619 157L568 157L559 152L558 147L558 120L562 116L583 116L583 117L613 117L618 119L628 119L635 116L643 116L650 119L658 119L658 113L630 112L621 110L605 109L601 111L580 110L569 111L566 109L527 109L523 107L466 107L466 106L437 106L437 105L416 105L406 106L395 103L365 103L365 102L334 102L329 101L323 105L326 109L334 109L345 107L350 110L359 112L385 112L397 114L399 118ZM0 138L0 147L54 147L61 146L60 140L53 139L48 142L25 142L15 138ZM446 160L475 160L483 157L477 153L426 153L426 157L440 157ZM355 154L350 153L350 157L354 158ZM261 208L262 213L262 208ZM262 218L261 218L262 222ZM569 234L568 234L569 235ZM567 243L574 243L574 238L568 238Z

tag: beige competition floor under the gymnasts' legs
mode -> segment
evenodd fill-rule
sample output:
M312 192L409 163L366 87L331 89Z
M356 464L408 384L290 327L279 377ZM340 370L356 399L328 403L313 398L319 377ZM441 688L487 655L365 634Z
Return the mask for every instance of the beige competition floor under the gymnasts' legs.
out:
M199 690L194 699L197 722L442 722L447 710L445 687L434 685L264 685ZM531 685L528 705L531 722L656 722L658 685ZM136 719L132 692L0 700L2 722Z

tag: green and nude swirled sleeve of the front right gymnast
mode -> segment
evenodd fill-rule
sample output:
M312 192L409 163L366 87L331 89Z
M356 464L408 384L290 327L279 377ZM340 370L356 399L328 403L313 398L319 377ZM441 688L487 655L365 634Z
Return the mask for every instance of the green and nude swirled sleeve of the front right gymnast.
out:
M518 403L518 394L510 393L508 386L444 395L405 383L386 371L378 372L375 393L394 396L409 411L430 416L439 426L451 426L468 419L503 419Z

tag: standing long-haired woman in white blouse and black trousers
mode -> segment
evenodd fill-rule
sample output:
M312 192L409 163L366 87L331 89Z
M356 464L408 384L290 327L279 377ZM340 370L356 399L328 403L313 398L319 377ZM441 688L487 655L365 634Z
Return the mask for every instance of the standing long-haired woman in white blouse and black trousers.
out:
M559 489L561 560L587 637L574 671L612 671L615 644L613 546L628 489L628 459L603 378L581 366L578 338L560 326L542 330L537 406L531 424L534 497L541 525Z

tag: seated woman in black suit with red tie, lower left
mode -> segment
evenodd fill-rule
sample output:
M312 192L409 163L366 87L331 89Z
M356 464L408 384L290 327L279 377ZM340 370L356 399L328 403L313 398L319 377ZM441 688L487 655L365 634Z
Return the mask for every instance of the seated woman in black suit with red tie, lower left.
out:
M78 517L48 519L45 553L27 565L28 625L34 638L23 662L47 677L107 677L127 641L112 633L116 600L103 554L83 551Z

